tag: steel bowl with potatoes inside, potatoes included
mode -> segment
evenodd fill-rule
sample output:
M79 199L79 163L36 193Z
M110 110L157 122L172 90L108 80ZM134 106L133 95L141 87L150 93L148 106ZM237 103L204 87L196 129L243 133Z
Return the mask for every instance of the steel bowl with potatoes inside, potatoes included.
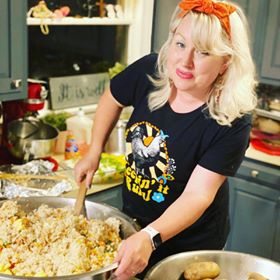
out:
M190 251L172 255L153 266L145 280L276 280L280 264L231 251Z

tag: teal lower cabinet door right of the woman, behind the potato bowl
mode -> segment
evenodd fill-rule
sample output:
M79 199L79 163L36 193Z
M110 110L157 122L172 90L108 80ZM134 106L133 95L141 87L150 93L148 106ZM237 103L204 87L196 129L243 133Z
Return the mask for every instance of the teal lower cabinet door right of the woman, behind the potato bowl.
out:
M230 178L231 232L227 249L280 261L280 191Z

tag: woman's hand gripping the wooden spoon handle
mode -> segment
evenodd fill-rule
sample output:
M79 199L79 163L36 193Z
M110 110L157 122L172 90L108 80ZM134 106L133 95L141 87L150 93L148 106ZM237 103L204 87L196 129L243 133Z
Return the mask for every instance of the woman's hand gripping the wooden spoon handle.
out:
M100 162L100 154L91 153L90 151L78 161L74 167L74 177L78 185L84 180L86 186L90 187L94 173L98 169Z

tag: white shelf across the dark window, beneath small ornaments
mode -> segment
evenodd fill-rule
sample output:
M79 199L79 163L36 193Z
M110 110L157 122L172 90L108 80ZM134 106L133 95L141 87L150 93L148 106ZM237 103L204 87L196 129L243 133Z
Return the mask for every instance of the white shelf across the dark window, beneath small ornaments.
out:
M47 18L47 19L39 19L39 18L27 18L27 25L40 25L41 23L47 25L130 25L132 21L130 19L120 19L120 18L74 18L74 17L64 17L64 18Z

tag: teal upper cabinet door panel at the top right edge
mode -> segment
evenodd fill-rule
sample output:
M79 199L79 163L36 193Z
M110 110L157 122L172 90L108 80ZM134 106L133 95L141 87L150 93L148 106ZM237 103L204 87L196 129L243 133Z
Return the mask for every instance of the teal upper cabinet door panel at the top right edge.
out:
M261 75L280 84L280 1L270 0Z

